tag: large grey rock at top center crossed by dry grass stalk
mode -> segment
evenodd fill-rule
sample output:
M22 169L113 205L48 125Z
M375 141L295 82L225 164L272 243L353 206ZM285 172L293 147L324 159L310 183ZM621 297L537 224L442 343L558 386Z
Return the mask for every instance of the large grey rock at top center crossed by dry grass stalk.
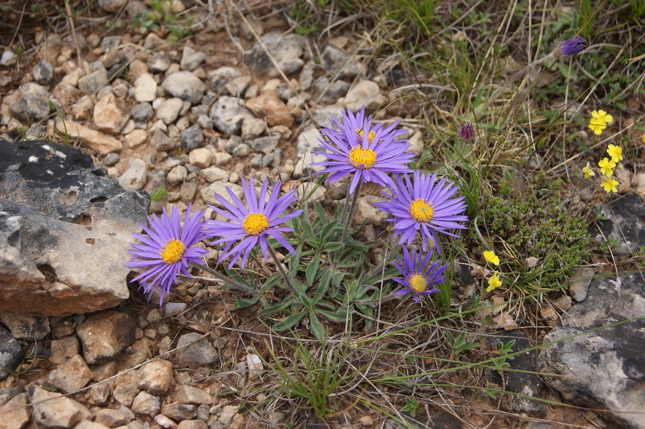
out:
M272 61L264 51L264 47L275 59L279 68L286 75L299 72L303 68L304 61L300 58L303 55L305 39L296 34L283 35L280 32L270 32L260 37L263 45L255 43L246 52L246 59L252 70L257 74L270 77L279 76L278 70L273 66Z

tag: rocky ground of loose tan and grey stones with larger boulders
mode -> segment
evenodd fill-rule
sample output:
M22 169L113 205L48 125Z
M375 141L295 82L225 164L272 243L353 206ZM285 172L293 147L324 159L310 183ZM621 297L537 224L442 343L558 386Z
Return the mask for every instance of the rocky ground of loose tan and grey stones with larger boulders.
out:
M124 13L132 19L145 7L130 1ZM36 28L32 55L5 51L0 137L12 143L0 146L0 321L6 327L0 327L0 428L323 424L303 412L292 415L289 406L248 413L236 393L268 383L261 357L268 358L264 341L270 332L251 310L233 311L230 292L216 284L181 283L157 307L158 294L148 302L135 288L128 290L125 279L132 273L123 265L130 232L148 214L139 191L168 191L150 205L150 213L164 205L185 210L188 203L217 204L213 195L225 195L224 188L241 197L241 177L253 174L259 181L281 180L303 199L315 172L310 164L321 160L310 152L317 149L318 127L330 125L328 117L387 104L377 117L389 122L413 109L397 98L406 78L375 67L359 33L340 32L319 46L286 29L275 17L249 14L237 26L239 38L221 28L177 44L158 32L85 28L55 34ZM420 154L419 130L410 126L408 137ZM641 181L637 174L633 186L639 194ZM319 188L309 198L333 208L346 193L343 186ZM373 208L375 201L377 192L367 188L355 216L368 220L364 234L370 239L382 237L386 219ZM645 245L638 195L604 210L610 217L604 237L622 240L618 248L625 254ZM207 217L215 218L214 212ZM213 248L207 261L214 263L218 255ZM544 343L645 315L640 274L591 282L593 274L581 270L569 294L542 308ZM472 279L461 281L465 287ZM506 330L501 338L530 348L503 306L491 315ZM617 324L518 358L511 365L560 377L546 377L551 390L535 375L509 372L495 383L524 397L514 396L504 412L532 429L571 421L577 427L644 428L644 366L628 346L642 343L642 332L642 320ZM591 404L597 414L531 397ZM266 399L260 392L250 401ZM452 404L459 413L428 412L435 420L426 427L483 427L491 419L482 404ZM506 427L501 421L497 427ZM326 424L397 427L370 410L348 411L345 423Z

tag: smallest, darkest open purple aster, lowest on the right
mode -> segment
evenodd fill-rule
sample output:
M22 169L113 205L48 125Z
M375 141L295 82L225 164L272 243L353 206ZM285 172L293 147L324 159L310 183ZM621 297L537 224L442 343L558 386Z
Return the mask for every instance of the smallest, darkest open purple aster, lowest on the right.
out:
M443 275L448 264L439 266L441 261L435 261L432 264L432 249L430 252L423 255L421 249L419 252L412 251L412 255L408 252L408 248L403 248L403 259L398 257L399 263L393 262L392 264L399 270L403 277L392 277L392 280L404 286L401 290L397 290L395 295L404 295L410 292L414 301L419 302L419 295L432 295L439 292L439 289L433 288L435 284L442 283L446 276Z

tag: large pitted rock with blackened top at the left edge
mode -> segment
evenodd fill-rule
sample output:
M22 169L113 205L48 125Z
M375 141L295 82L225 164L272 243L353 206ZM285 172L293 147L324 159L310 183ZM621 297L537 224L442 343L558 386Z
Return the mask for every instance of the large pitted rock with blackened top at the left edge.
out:
M124 264L147 197L68 146L0 141L0 152L0 307L69 315L126 299Z

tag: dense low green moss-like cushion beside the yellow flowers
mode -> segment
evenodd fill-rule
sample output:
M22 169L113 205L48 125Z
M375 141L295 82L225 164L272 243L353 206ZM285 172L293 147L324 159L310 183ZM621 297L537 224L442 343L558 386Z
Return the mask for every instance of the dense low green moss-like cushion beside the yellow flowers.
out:
M483 217L486 240L498 255L506 254L500 255L500 270L524 294L568 287L575 266L590 259L586 221L568 213L556 198L491 197ZM537 258L532 267L531 257Z

